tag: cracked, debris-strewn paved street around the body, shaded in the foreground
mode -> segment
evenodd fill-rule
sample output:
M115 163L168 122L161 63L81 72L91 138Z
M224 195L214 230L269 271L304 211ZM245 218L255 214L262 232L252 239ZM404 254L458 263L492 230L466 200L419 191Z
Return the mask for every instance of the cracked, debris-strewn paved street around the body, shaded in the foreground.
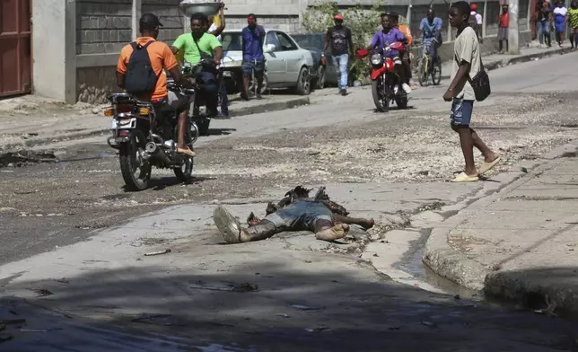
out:
M574 348L571 322L475 297L457 300L455 287L442 286L452 295L439 295L381 273L439 291L419 260L426 230L455 214L440 207L457 211L519 177L514 165L578 138L578 73L568 69L575 59L568 54L491 72L493 95L476 104L474 128L505 160L491 180L474 184L447 182L463 163L441 99L447 82L414 92L411 109L386 114L373 111L371 91L362 87L347 97L324 90L293 110L214 121L213 128L229 134L200 139L197 182L186 186L154 170L153 188L124 192L104 136L43 145L64 148L58 163L0 169L4 297L46 307L51 313L11 303L39 325L62 313L74 324L87 319L84 339L109 324L131 329L131 336L165 333L170 324L171 334L192 340L175 338L175 346L188 348L421 351L424 341L431 350ZM218 244L211 220L216 203L244 219L250 211L261 215L268 200L297 184L327 185L334 200L379 226L341 244L310 234ZM165 247L171 253L143 257ZM258 291L230 292L244 282ZM37 297L31 288L54 295ZM165 315L133 321L153 313ZM74 329L63 325L51 336ZM12 333L17 339L4 346L32 350L30 333ZM54 341L43 341L43 350L51 350Z

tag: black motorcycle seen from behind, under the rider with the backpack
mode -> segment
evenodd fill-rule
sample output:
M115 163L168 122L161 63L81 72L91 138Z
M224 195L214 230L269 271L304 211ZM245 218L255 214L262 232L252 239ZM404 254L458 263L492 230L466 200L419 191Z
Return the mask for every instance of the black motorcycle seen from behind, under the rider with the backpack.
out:
M194 93L177 84L170 90ZM148 188L152 168L171 168L178 180L187 182L193 172L193 157L178 154L177 115L157 117L150 101L139 101L132 94L121 92L109 95L111 107L104 115L112 118L112 136L107 143L118 149L120 172L129 190ZM198 138L197 124L188 119L186 143L192 149Z

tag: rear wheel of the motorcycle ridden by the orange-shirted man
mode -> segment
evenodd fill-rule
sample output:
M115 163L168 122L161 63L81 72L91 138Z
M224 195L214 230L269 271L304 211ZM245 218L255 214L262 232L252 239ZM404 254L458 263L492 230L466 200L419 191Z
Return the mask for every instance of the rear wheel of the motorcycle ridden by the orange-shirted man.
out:
M151 180L151 163L144 162L146 138L142 132L131 132L128 141L122 143L119 149L120 172L125 180L127 190L144 190Z

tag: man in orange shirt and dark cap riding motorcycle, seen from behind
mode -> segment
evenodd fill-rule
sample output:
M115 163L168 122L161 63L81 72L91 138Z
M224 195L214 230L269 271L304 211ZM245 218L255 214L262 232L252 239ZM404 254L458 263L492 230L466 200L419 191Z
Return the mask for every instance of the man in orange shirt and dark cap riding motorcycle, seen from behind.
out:
M169 103L167 76L162 70L167 69L175 82L183 85L189 85L190 82L181 78L179 63L171 54L171 49L162 41L156 40L159 27L162 27L159 18L153 13L145 13L138 24L141 36L120 50L117 84L128 93L134 94L138 100L151 101L159 119L176 112L179 116L177 152L195 156L195 152L190 150L185 141L188 99L179 97L177 101Z

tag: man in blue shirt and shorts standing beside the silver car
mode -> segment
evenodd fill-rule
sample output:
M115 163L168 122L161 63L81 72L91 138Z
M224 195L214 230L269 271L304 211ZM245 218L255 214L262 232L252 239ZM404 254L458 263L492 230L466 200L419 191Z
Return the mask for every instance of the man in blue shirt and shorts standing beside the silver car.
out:
M242 31L243 49L243 84L244 90L241 98L249 100L249 82L255 73L257 80L257 99L261 99L263 89L263 75L265 75L265 55L263 54L263 42L265 40L265 28L257 24L257 16L250 13L247 17L248 26Z

